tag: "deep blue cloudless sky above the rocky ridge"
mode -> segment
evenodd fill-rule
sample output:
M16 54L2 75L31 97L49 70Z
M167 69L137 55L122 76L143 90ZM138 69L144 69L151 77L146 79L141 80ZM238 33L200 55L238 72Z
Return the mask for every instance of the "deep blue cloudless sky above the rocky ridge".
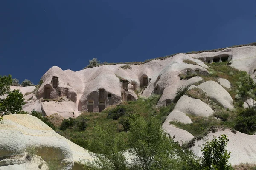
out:
M0 75L256 42L256 0L0 0Z

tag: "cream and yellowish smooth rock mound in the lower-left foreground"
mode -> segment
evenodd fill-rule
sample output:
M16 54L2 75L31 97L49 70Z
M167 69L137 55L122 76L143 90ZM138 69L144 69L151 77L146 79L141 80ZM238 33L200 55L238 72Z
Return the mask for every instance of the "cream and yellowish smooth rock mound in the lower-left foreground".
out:
M25 170L29 148L35 148L35 159L43 159L38 161L40 164L55 161L64 169L71 169L80 159L91 159L87 150L58 135L35 116L16 114L3 116L3 119L4 123L0 124L0 169L9 166Z

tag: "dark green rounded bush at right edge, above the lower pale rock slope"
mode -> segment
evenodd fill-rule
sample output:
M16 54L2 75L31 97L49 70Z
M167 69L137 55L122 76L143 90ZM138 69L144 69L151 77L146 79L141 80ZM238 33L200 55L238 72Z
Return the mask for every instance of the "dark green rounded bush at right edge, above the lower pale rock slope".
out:
M256 131L256 109L247 108L241 111L235 120L235 129L241 133L253 134Z

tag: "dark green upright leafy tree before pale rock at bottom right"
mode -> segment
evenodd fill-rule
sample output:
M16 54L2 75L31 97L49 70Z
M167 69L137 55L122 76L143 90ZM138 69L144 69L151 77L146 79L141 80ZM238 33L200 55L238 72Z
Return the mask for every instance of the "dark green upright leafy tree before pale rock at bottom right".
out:
M202 149L202 169L203 170L232 170L228 162L230 152L227 150L227 135L221 135L212 141L207 141Z

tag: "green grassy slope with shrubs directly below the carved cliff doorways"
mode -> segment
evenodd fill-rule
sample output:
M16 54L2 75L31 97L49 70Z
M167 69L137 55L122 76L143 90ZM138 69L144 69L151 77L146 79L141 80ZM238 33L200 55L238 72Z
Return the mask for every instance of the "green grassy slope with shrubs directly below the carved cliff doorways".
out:
M155 105L159 99L159 95L152 95L148 99L139 98L137 101L123 102L120 105L111 106L100 113L82 113L80 116L84 116L87 119L87 127L84 131L70 127L65 131L58 129L57 133L87 150L94 151L92 142L96 137L94 129L96 125L104 126L109 123L117 123L117 130L125 131L127 129L127 127L124 127L125 119L131 114L143 117L155 116L164 122L166 116L174 109L175 104L172 103L165 107L156 108Z

